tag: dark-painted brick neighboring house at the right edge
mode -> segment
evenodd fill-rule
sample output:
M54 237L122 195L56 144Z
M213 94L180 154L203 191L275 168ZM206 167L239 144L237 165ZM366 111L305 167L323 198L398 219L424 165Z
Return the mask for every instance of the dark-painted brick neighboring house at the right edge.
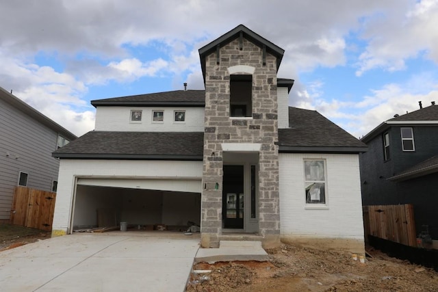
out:
M396 115L365 135L363 205L413 204L417 235L438 239L438 106Z

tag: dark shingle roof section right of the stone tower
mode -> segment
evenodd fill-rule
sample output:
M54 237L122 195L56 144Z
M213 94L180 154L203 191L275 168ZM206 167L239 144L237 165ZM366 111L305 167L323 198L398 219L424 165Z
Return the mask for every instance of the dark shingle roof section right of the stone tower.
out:
M318 111L289 107L289 129L279 129L281 152L365 152L368 148Z

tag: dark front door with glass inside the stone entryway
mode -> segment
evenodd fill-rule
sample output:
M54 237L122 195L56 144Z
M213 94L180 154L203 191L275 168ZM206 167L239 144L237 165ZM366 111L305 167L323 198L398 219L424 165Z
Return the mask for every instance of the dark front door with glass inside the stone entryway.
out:
M224 228L244 228L244 165L224 165L222 217Z

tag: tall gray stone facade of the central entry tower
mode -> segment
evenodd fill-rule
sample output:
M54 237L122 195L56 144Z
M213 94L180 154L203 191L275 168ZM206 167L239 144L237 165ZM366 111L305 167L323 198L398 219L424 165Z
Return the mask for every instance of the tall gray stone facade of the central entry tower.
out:
M260 144L259 150L259 235L279 238L279 151L277 122L276 57L253 42L238 39L207 55L205 66L205 133L201 244L216 247L222 235L222 144ZM252 118L230 118L230 73L233 66L254 68ZM242 67L243 68L243 67ZM246 67L248 68L248 67ZM234 72L245 74L248 72Z

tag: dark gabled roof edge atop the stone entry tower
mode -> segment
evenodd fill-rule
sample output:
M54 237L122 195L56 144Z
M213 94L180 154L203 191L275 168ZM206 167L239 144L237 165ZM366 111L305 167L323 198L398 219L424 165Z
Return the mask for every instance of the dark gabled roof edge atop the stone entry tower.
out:
M285 50L281 49L281 47L273 44L269 40L266 40L266 38L263 38L259 34L256 34L254 31L248 29L248 27L244 25L237 25L237 27L231 29L231 31L220 36L219 38L216 38L216 40L214 40L213 42L210 42L209 44L206 44L204 47L199 49L199 57L201 58L201 69L203 70L204 81L205 57L216 51L217 47L223 47L224 45L229 44L229 42L231 42L232 40L239 38L240 34L242 34L243 38L250 40L250 42L257 44L257 46L259 47L266 46L266 51L276 57L276 69L279 70L281 59L283 59L283 54L285 53Z

